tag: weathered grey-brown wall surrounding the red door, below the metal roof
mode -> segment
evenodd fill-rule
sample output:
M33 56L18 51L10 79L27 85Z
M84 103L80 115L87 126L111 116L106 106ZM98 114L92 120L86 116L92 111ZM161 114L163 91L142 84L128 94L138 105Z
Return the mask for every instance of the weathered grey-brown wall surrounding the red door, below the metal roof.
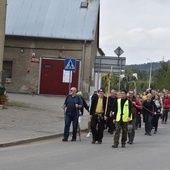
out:
M82 61L85 47L85 63L82 90L87 96L91 84L91 61L97 47L92 42L71 41L45 38L6 36L4 61L12 61L12 82L6 84L7 91L19 93L37 93L39 83L39 63L35 58L75 58ZM28 72L28 69L30 70ZM82 75L81 75L82 77Z

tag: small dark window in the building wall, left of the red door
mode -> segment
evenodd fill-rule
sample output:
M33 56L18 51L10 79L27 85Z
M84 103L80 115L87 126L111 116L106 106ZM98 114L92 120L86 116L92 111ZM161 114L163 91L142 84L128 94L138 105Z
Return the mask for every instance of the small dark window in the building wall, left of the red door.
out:
M2 82L12 82L12 61L3 61Z

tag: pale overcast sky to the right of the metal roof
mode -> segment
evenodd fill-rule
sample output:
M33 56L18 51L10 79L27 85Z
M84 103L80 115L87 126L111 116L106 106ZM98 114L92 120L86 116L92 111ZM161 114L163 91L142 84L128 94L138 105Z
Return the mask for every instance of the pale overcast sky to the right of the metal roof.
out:
M119 46L128 65L170 60L170 0L101 0L100 48Z

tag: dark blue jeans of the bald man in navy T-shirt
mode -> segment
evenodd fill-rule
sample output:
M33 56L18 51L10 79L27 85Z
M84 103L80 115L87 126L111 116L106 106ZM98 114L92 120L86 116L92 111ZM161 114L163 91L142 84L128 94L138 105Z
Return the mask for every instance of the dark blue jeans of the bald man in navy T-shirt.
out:
M67 115L65 116L65 127L64 127L64 138L68 139L70 124L72 122L73 125L73 139L76 139L77 128L78 128L78 116L77 115Z

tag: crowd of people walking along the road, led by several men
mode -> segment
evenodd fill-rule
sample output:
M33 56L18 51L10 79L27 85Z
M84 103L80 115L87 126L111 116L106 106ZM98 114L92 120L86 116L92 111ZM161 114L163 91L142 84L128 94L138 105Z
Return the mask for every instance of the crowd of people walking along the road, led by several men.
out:
M89 112L90 131L92 133L92 144L101 144L103 132L107 128L110 134L114 133L112 145L117 148L119 142L124 148L126 143L133 144L135 130L141 128L142 121L145 124L145 135L151 136L158 130L158 121L161 117L162 123L167 123L170 111L170 93L167 90L158 92L146 90L143 95L135 94L134 90L110 91L110 96L105 96L105 89L100 88L91 96L90 107L81 95L76 94L76 88L72 87L70 94L66 97L63 108L65 111L65 128L63 141L69 137L71 122L73 123L73 136L71 141L76 141L78 117L85 108ZM120 138L121 135L121 140Z

